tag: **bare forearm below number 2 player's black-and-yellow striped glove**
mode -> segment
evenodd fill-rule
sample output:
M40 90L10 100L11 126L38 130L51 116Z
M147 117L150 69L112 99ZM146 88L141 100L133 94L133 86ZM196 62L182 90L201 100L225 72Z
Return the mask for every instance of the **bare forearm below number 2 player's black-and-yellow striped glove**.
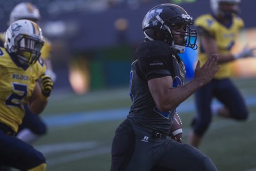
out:
M40 95L43 96L43 95ZM36 98L32 103L29 104L29 108L32 113L39 115L42 111L44 111L46 105L47 105L47 98Z

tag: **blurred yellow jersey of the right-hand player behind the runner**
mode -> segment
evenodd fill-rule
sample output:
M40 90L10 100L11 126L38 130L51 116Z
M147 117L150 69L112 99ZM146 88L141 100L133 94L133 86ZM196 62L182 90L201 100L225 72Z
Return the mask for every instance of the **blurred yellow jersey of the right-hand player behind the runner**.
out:
M196 19L195 26L205 30L210 36L215 38L219 54L229 54L240 30L244 27L244 22L239 16L233 16L232 23L227 27L218 22L211 14L204 14ZM207 54L200 48L199 59L202 64L205 63L207 57ZM215 78L223 79L230 76L231 62L221 63L221 67L216 73Z

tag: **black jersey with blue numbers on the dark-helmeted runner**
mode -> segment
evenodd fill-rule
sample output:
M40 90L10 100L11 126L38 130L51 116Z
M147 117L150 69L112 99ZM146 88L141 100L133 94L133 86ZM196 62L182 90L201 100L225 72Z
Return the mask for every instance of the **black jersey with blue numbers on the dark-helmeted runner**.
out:
M175 110L159 111L147 84L150 79L165 76L172 76L174 88L183 86L185 68L182 59L163 41L141 44L136 50L136 60L130 73L133 104L127 117L168 134Z

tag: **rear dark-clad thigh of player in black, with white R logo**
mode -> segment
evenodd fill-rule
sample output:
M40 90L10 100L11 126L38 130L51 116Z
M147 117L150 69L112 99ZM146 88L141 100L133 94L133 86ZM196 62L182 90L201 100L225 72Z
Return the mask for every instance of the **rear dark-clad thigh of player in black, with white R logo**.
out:
M125 122L116 130L112 143L111 171L148 171L154 165L152 134L141 125L127 125L129 121Z

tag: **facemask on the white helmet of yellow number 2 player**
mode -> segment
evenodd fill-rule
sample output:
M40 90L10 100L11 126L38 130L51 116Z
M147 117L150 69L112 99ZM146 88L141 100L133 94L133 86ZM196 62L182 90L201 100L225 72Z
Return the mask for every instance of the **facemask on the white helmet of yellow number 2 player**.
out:
M16 50L15 54L22 65L33 65L40 57L40 50L43 45L44 41L36 37L19 34L14 39L13 48Z

